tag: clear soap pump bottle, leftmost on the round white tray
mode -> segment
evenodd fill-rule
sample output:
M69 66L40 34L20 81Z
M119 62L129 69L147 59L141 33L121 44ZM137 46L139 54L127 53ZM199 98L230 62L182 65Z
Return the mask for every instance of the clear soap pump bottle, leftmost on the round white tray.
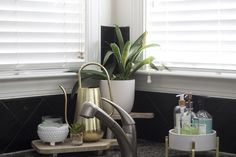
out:
M174 108L174 130L177 134L180 134L180 117L186 112L184 94L176 95L179 97L178 105Z

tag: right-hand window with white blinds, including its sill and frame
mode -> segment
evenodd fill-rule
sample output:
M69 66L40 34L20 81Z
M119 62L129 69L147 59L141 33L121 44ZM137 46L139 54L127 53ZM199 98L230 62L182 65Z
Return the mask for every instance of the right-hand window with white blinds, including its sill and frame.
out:
M235 0L135 0L131 8L131 37L146 29L147 42L160 44L147 55L171 69L140 71L136 90L236 98Z

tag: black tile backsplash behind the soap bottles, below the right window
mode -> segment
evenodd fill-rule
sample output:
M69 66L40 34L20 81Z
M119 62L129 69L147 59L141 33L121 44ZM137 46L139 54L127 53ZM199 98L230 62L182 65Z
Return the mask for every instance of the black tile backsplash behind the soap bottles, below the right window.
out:
M194 111L199 110L200 96L193 96ZM173 128L173 109L178 103L175 94L137 91L135 111L154 112L152 120L138 120L137 132L141 138L164 142L168 131ZM220 151L236 154L236 100L208 97L205 110L213 117L213 129L220 137Z

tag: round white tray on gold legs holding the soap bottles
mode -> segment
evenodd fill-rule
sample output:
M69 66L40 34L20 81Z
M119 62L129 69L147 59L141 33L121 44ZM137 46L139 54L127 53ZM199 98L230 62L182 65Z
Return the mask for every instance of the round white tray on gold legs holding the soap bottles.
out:
M192 142L195 142L196 151L209 151L216 149L216 131L206 135L180 135L169 131L169 148L181 151L191 151Z

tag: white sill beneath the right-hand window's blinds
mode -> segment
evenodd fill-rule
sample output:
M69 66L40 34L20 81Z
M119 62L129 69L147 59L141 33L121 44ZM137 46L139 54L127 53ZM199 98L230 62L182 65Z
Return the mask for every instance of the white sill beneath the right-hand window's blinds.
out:
M148 72L137 73L136 90L174 94L192 92L193 95L236 99L236 74L183 71L150 74L152 83L148 84Z

